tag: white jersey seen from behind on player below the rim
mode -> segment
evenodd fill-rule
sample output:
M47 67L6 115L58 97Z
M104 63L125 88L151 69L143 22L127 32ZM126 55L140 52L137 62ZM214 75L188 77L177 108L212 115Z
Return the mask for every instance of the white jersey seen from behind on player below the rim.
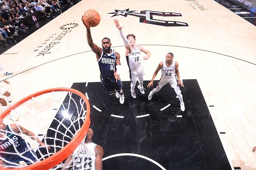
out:
M97 144L93 142L78 145L74 155L72 155L72 161L74 161L73 164L75 165L73 170L95 170L96 146Z

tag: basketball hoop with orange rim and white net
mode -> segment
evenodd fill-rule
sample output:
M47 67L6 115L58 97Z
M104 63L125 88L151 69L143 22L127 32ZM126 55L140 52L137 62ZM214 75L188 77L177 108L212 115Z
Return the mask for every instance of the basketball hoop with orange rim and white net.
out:
M39 102L42 96L47 96L46 102L41 102L41 101ZM52 100L49 99L49 96L52 96ZM56 99L58 97L59 97L59 100ZM63 102L63 97L65 98L66 103ZM57 103L58 105L58 102L60 105L58 106L59 110L57 110L56 105L54 105L54 103ZM22 108L22 109L19 109L19 108ZM29 110L28 112L25 112L24 110L28 108L31 108L31 110ZM40 117L44 115L48 116L48 114L49 115L51 114L49 111L50 112L55 111L56 113L57 112L60 113L60 114L53 113L53 121L55 121L56 123L54 124L57 127L56 129L42 125L45 122L41 121L40 119L38 122L33 121L34 119L32 119L34 117ZM64 117L61 117L61 118L57 117L57 115L62 116L63 111L68 114L70 114L69 112L72 112L72 113L68 116L64 115ZM62 87L52 88L52 89L42 90L40 92L31 94L25 97L24 99L21 99L19 102L16 102L6 111L4 111L0 115L0 120L4 120L4 118L11 112L15 113L16 115L19 115L20 120L14 124L20 124L22 123L22 120L24 120L23 124L25 125L35 124L35 126L37 126L38 128L42 128L42 129L46 128L47 132L44 135L44 137L40 137L40 136L36 136L36 137L38 139L43 138L45 141L45 144L50 145L51 151L45 148L45 150L47 150L47 154L43 154L40 151L42 146L34 147L40 153L39 155L40 158L37 159L36 163L28 165L26 167L18 166L15 168L11 168L9 170L22 170L22 169L23 170L24 169L31 169L31 170L47 169L48 170L53 167L56 167L56 169L61 167L61 165L58 166L58 164L64 161L69 155L73 153L75 148L77 148L78 145L85 138L88 128L90 126L90 104L87 98L84 96L83 93L79 92L78 90L74 90L70 88L62 88ZM44 112L47 114L45 114ZM53 121L51 122L51 124L53 124ZM21 126L27 129L27 127L24 126L23 124ZM32 132L34 132L34 130L37 130L37 127L35 127L34 129L28 128L28 130L31 130ZM49 133L48 131L51 131L51 132ZM51 133L53 133L53 135L51 135ZM58 136L61 136L61 137L58 137ZM51 143L51 141L53 141L54 143ZM6 166L4 168L7 170L10 167Z

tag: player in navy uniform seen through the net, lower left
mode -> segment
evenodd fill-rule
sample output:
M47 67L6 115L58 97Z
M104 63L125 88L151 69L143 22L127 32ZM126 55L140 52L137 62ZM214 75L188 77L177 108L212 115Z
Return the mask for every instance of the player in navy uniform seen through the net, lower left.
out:
M37 137L35 137L34 133L26 130L24 127L21 127L18 124L5 125L3 120L0 120L0 151L9 152L9 154L0 153L0 167L1 164L13 166L14 164L12 163L19 164L19 161L25 161L25 163L29 165L37 160L36 153L31 149L28 142L26 142L21 136L17 135L19 133L32 136L31 139L36 139L41 146L46 146L44 142L41 142ZM49 145L46 147L50 148ZM20 155L14 155L17 154L15 148L21 156L28 159L22 158ZM3 159L5 161L3 161Z

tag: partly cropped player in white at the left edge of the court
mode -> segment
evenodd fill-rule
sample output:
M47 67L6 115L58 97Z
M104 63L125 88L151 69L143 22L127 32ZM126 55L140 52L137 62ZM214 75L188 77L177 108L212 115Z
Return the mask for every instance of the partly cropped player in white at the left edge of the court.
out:
M0 80L0 81L3 81L4 83L9 84L9 81L6 81L6 80ZM5 101L5 99L3 99L2 96L6 96L6 99L8 100L9 105L12 105L12 97L7 90L0 87L0 104L2 105L3 111L5 111L8 106L7 106L7 102ZM8 116L9 116L9 119L11 119L12 121L18 121L18 118L14 117L11 113Z

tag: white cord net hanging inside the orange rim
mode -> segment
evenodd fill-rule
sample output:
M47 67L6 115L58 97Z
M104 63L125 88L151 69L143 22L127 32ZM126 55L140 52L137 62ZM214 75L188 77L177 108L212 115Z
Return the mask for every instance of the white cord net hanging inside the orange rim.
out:
M78 138L78 133L82 133L81 129L85 130L84 126L87 127L86 131L88 130L90 120L86 122L85 120L87 116L89 117L87 113L89 103L85 98L84 95L77 95L71 91L52 91L31 97L18 107L15 105L11 114L19 118L19 121L10 121L6 116L2 119L3 124L0 125L1 168L24 168L30 164L40 164L41 161L53 157L58 151L65 150L63 148L73 138ZM0 117L3 117L4 113ZM34 133L35 137L45 145L40 145L34 136L28 136L28 131L24 128ZM85 133L79 140L81 141L84 137ZM76 147L65 148L72 153ZM70 151L71 148L72 151ZM62 160L68 157L64 153L61 156ZM79 161L76 161L73 166L76 164L79 164ZM63 165L62 162L56 162L51 169L60 169Z

